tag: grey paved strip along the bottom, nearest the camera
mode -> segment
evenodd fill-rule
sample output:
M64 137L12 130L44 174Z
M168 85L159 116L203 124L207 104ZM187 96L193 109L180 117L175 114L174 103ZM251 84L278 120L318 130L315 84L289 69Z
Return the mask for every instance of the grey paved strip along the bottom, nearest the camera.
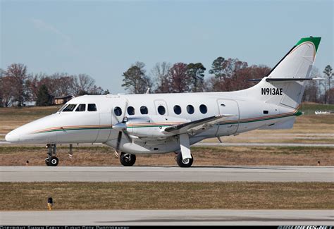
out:
M0 211L1 225L332 225L333 210Z

